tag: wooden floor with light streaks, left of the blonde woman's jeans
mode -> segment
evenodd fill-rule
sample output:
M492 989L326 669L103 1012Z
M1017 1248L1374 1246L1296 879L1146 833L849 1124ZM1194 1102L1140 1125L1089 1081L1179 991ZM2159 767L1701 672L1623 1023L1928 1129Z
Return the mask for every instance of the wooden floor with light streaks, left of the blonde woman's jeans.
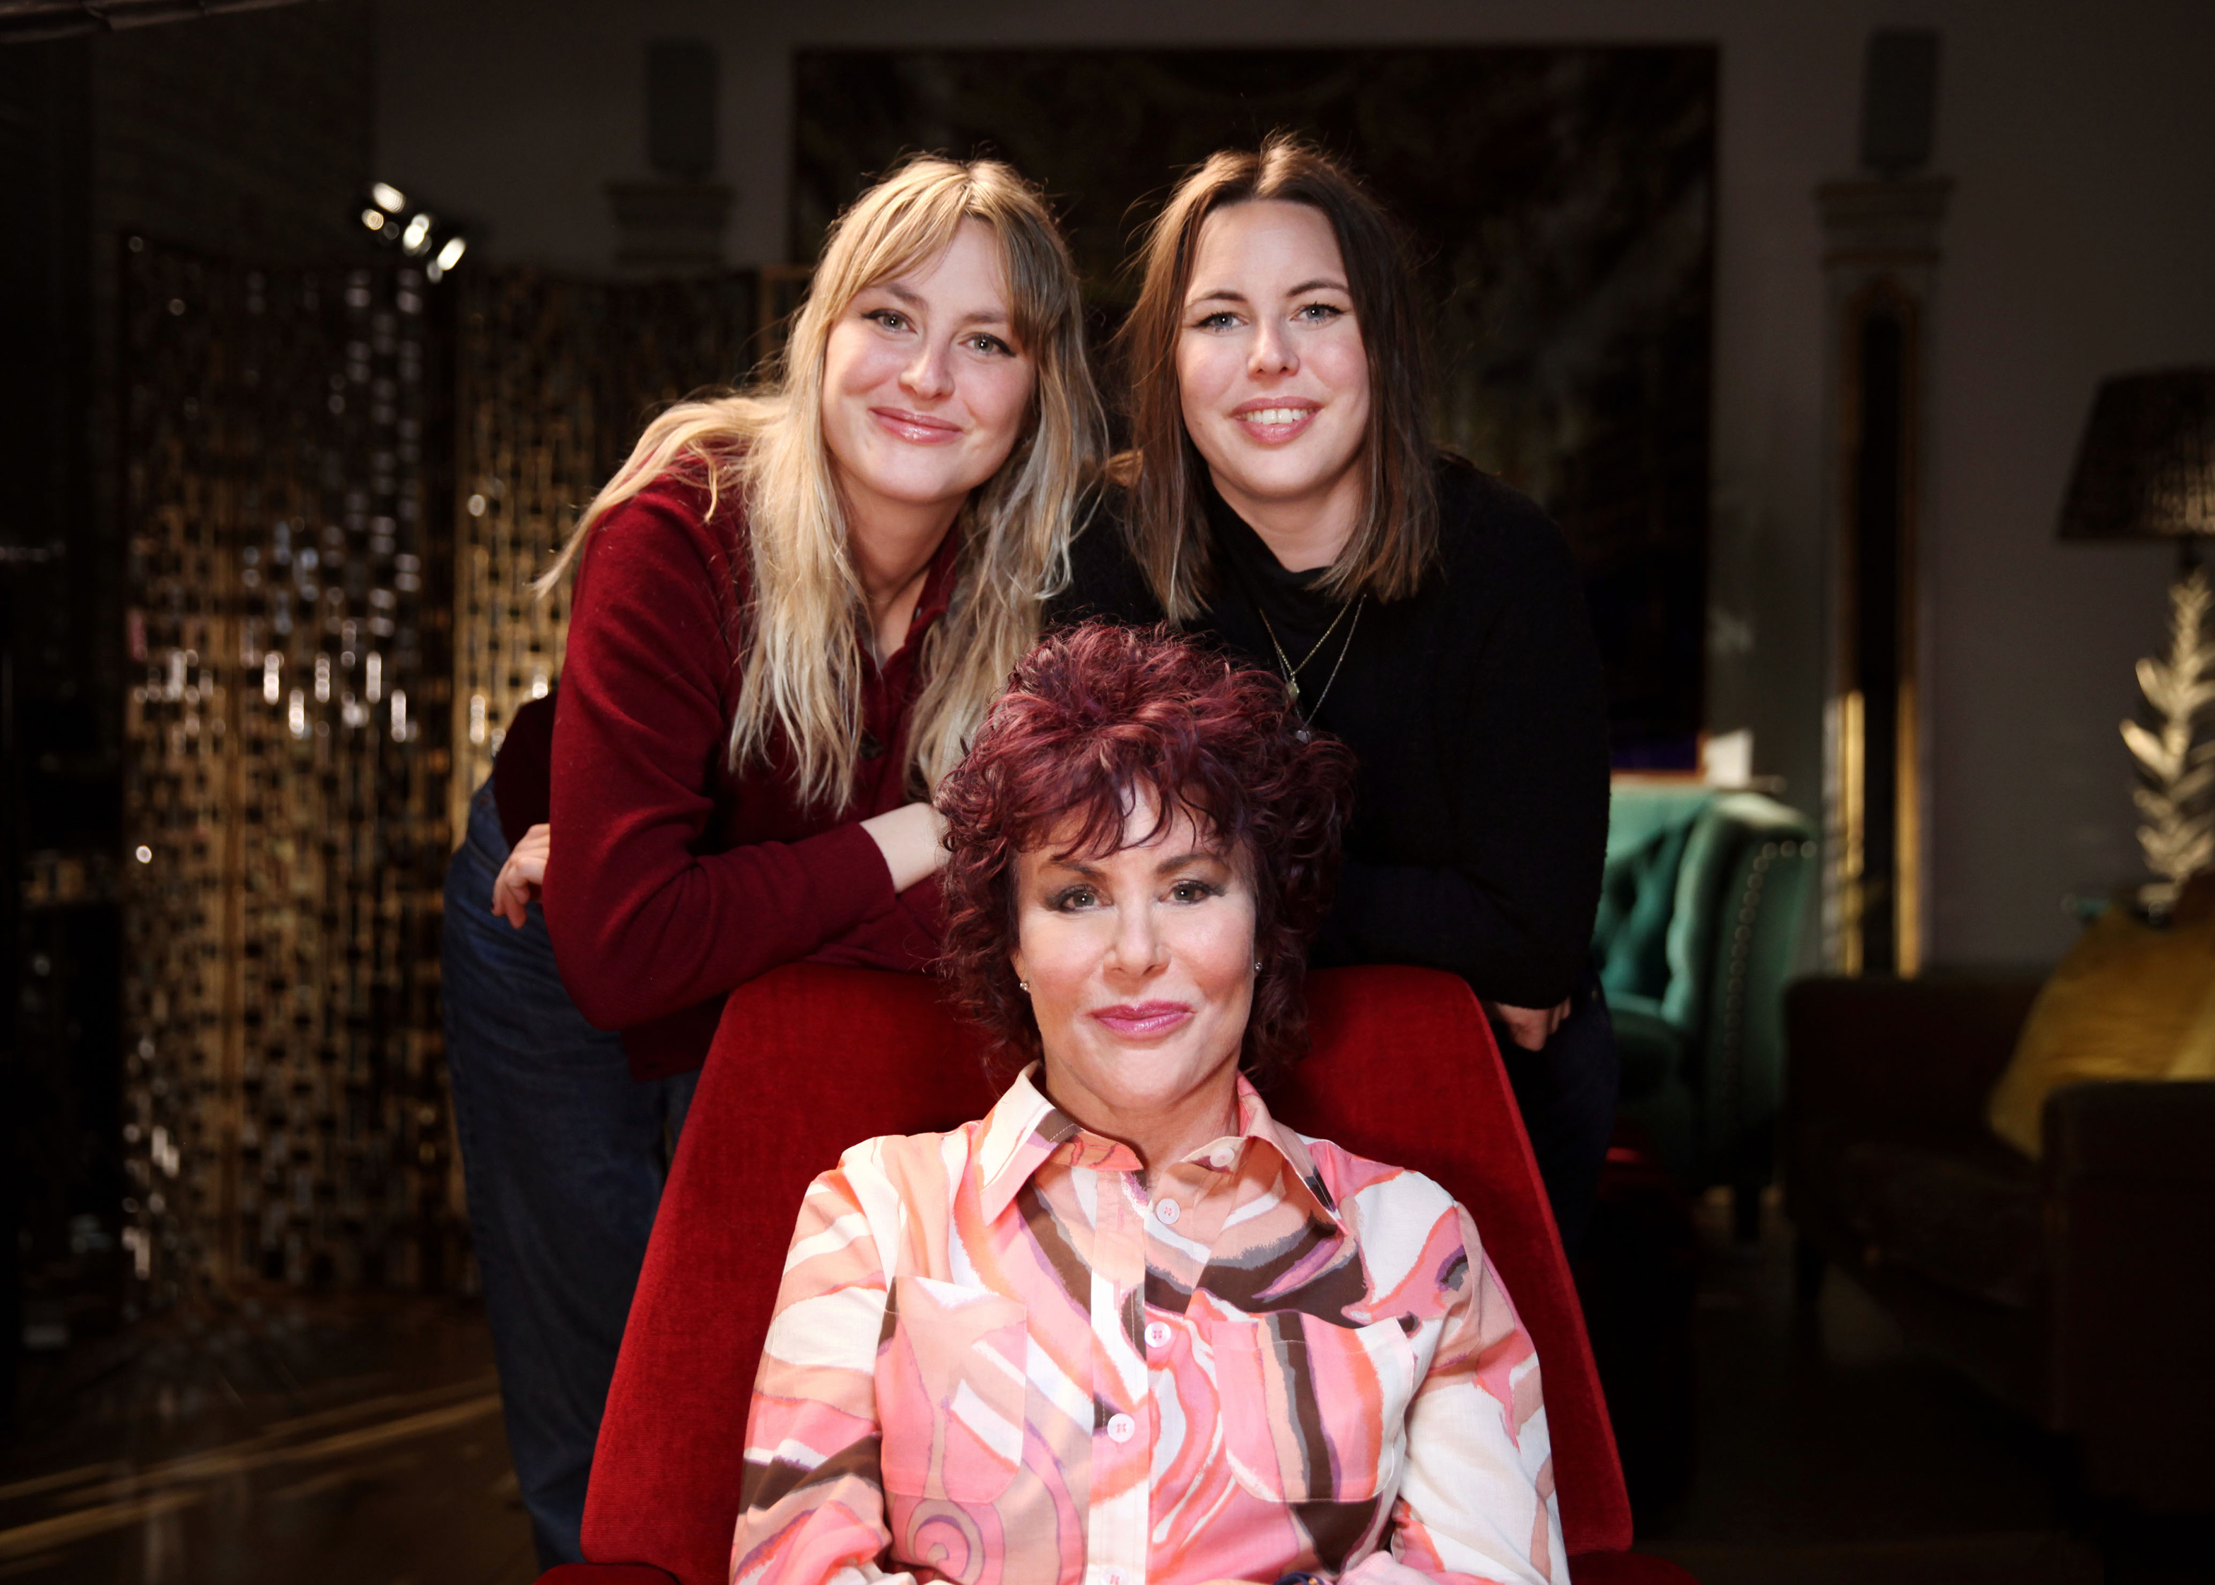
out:
M244 1306L31 1357L0 1581L527 1585L483 1315Z

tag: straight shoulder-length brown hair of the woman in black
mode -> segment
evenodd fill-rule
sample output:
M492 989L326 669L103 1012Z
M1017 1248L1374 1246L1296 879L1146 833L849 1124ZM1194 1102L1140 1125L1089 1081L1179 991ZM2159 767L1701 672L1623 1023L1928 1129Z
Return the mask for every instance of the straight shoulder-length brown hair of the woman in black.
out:
M1114 478L1132 494L1132 549L1172 622L1207 602L1207 463L1185 434L1176 341L1201 228L1234 204L1307 204L1331 221L1353 321L1369 354L1369 469L1360 522L1318 584L1325 593L1400 600L1438 547L1431 480L1431 359L1407 232L1336 159L1289 133L1258 151L1225 148L1196 166L1145 232L1139 301L1116 334L1130 383L1130 452Z

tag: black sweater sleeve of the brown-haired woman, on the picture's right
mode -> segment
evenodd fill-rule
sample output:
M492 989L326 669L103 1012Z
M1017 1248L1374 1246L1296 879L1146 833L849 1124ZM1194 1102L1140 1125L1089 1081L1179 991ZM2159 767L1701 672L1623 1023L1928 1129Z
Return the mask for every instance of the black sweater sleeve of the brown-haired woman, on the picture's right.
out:
M1493 620L1431 704L1455 744L1451 848L1435 866L1349 859L1316 959L1442 967L1480 996L1550 1007L1590 963L1608 704L1568 542L1535 505L1500 494L1491 547L1455 580Z

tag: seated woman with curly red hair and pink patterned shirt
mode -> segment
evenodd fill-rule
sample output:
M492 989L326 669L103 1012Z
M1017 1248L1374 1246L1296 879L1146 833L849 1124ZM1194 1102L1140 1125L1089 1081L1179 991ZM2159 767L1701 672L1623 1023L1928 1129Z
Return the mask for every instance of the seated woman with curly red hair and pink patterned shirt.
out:
M1028 1058L800 1209L746 1585L1566 1581L1537 1357L1469 1213L1269 1118L1351 757L1083 626L941 784L950 978ZM1240 1071L1243 1069L1243 1071Z

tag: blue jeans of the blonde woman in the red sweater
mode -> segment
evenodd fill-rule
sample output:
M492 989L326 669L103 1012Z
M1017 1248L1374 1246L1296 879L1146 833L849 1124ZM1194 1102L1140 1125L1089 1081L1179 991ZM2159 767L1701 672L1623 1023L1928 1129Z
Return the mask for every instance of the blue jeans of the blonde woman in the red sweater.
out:
M698 1074L633 1082L554 972L547 921L490 912L492 786L445 872L445 1060L507 1450L545 1567L580 1561L585 1479L622 1322Z

